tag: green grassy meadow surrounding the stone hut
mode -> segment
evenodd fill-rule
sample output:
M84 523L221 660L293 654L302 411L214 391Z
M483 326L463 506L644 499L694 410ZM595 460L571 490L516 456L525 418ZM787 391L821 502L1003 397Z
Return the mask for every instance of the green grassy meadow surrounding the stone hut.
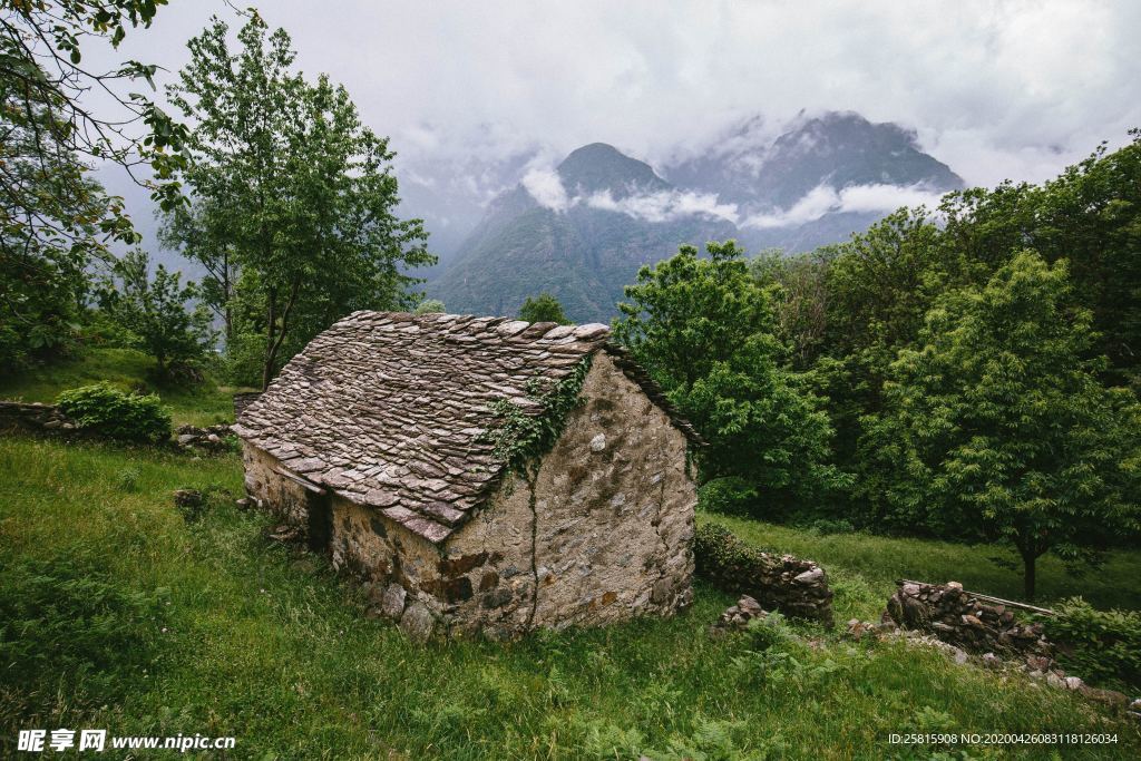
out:
M197 398L209 395L176 413L210 414ZM242 759L1141 754L1135 722L936 650L802 624L710 637L733 599L701 584L669 621L418 646L365 617L361 591L324 561L267 539L268 518L233 504L241 483L234 455L0 438L0 758L16 755L18 729L57 727L233 735L226 758ZM230 497L187 520L171 500L181 486ZM876 615L898 575L1017 583L987 565L992 548L727 523L823 562L841 620ZM1115 557L1087 597L1131 604L1115 582L1132 584L1139 562ZM1043 576L1047 594L1069 593L1061 575ZM1061 751L887 742L906 731L1118 739Z

